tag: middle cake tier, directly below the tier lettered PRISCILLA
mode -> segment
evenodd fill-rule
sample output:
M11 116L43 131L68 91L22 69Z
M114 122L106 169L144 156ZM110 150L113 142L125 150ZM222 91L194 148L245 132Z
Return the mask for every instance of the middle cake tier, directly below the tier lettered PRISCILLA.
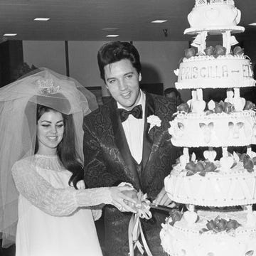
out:
M213 113L179 113L170 122L174 146L247 146L256 144L256 117L253 110Z

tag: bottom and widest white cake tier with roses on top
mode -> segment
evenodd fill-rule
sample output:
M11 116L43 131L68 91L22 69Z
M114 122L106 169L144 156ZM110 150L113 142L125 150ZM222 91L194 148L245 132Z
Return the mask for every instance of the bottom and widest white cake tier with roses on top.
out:
M245 212L218 213L198 212L197 223L188 226L184 218L174 226L170 220L163 224L160 232L161 245L171 256L253 256L256 255L256 225L248 225ZM208 231L200 233L206 228L207 220L216 216L226 220L237 220L242 226L233 232L222 231L214 233Z

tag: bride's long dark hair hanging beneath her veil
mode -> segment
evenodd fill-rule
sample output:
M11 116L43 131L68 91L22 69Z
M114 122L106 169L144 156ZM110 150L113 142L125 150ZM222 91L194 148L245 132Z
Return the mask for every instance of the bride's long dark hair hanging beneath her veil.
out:
M54 111L53 108L46 107L43 105L37 104L36 107L36 122L38 119L46 113ZM83 167L82 161L80 161L77 152L75 151L75 127L73 122L73 115L72 114L63 114L63 122L64 122L64 134L63 139L61 140L60 144L57 146L57 155L60 163L63 164L65 169L72 173L68 184L70 185L71 182L73 186L78 189L77 183L83 178ZM36 146L35 146L35 154L38 151L38 139L36 137Z

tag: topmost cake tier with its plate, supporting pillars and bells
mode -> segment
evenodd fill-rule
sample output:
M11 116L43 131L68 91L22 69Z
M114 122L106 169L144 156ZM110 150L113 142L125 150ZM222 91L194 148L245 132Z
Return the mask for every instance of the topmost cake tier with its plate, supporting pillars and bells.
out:
M206 37L209 34L223 34L223 47L230 53L230 47L238 43L232 33L241 33L245 28L238 26L241 12L235 7L233 0L196 0L190 14L188 14L187 28L184 33L197 34L192 46L203 53L206 48Z

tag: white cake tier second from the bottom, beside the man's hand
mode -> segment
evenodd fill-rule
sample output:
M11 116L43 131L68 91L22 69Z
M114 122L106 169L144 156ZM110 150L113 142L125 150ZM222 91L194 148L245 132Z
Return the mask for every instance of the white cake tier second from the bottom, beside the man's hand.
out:
M218 169L201 176L186 176L180 164L164 179L165 190L172 201L196 206L242 206L256 203L256 169L248 172L242 162L228 171Z

